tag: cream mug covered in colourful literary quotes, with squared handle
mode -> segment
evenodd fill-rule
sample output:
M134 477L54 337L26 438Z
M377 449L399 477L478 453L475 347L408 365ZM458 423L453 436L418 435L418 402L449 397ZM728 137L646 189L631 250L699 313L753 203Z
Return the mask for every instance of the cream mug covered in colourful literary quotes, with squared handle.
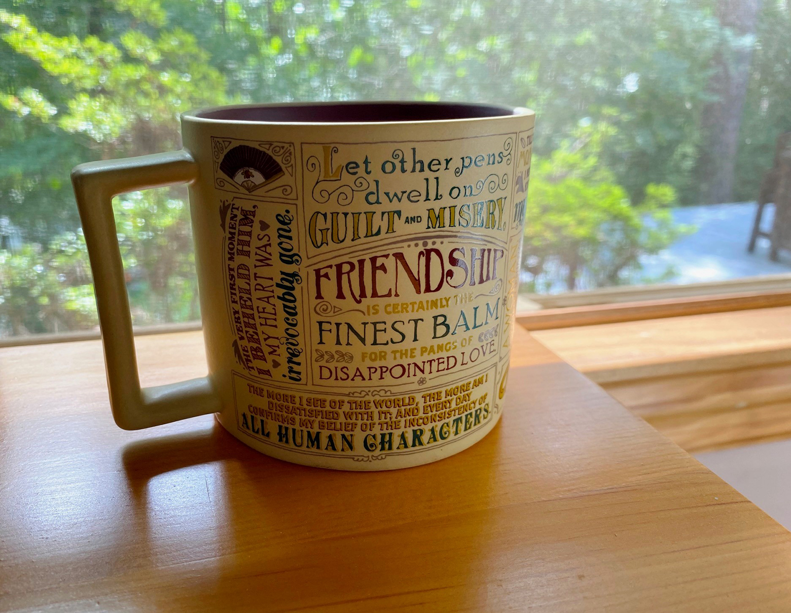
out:
M72 173L121 428L215 413L293 463L388 470L497 423L534 113L500 105L240 105L184 148ZM112 198L187 183L209 374L141 389Z

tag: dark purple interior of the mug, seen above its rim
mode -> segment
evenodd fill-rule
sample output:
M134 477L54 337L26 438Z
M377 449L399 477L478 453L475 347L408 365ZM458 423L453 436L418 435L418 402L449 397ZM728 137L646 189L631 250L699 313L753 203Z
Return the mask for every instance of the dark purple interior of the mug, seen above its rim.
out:
M437 121L511 116L514 109L499 105L450 102L343 102L312 105L272 105L207 109L196 117L224 121L279 123L356 123Z

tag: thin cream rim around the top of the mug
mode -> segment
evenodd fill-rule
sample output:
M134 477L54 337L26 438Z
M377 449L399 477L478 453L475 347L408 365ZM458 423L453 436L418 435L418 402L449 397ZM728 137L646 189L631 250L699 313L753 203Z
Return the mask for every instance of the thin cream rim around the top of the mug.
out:
M426 110L434 110L445 107L448 111L465 109L470 112L470 116L451 117L441 119L401 119L401 120L349 120L349 121L301 121L301 120L250 120L235 118L217 118L207 116L214 113L245 111L248 109L301 109L301 108L320 108L320 107L377 107L377 106L420 106ZM494 114L475 115L473 112L490 112ZM188 112L181 113L181 120L196 124L218 124L218 125L269 125L269 126L399 126L407 124L458 124L464 122L478 122L482 120L498 120L514 117L535 116L535 112L522 106L509 106L489 104L484 102L455 102L455 101L407 101L407 100L377 100L377 101L306 101L306 102L271 102L263 104L248 105L218 105L203 107Z

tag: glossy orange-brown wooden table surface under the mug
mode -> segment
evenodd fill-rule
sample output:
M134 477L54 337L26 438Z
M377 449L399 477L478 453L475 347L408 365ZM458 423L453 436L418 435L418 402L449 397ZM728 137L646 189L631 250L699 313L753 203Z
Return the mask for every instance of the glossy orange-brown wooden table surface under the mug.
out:
M200 333L138 337L144 384ZM789 611L791 538L517 332L481 443L391 473L292 466L212 417L124 432L98 341L0 350L0 609Z

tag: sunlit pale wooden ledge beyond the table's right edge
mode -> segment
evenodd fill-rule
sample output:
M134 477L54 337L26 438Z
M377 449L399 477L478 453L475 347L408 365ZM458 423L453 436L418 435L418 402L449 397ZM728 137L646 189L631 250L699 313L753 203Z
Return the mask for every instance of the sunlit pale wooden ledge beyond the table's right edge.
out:
M536 332L683 449L791 436L791 308Z

